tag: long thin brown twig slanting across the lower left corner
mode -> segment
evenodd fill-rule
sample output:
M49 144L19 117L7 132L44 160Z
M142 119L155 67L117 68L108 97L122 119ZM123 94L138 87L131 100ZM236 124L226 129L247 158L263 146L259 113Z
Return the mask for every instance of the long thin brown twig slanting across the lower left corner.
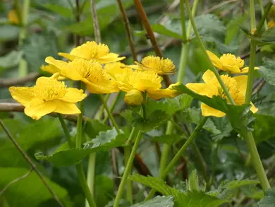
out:
M63 203L61 203L61 201L56 196L56 194L54 193L54 191L51 189L51 187L49 186L49 184L47 184L46 180L44 179L44 177L41 174L41 172L39 172L39 170L37 169L36 165L27 156L27 154L23 151L23 149L18 145L18 143L16 142L16 139L13 138L13 136L11 135L11 132L8 131L8 129L6 128L6 126L4 125L4 123L2 122L1 119L0 119L0 125L2 126L2 128L4 129L4 131L6 132L6 134L8 135L8 138L11 139L12 143L17 148L17 150L21 153L21 155L23 155L23 158L25 158L25 160L30 164L30 166L32 167L32 170L34 170L36 172L36 174L38 175L38 177L42 180L44 186L48 189L48 191L50 192L51 196L53 196L53 198L57 201L57 203L59 203L59 206L63 207Z

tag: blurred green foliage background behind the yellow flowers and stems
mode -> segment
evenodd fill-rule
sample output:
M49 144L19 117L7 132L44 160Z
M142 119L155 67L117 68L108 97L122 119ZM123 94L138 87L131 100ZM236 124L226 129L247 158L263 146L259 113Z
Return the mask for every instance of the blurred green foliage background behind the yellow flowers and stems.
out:
M80 22L77 22L74 15L75 1L33 0L30 1L27 18L27 35L22 44L18 45L18 37L22 27L16 23L11 23L7 18L8 12L15 7L15 2L0 2L0 102L2 103L13 102L5 81L10 78L34 74L49 76L39 69L44 64L45 57L53 56L56 58L57 52L70 51L75 45L75 35L79 35L82 42L94 40L90 1L80 1L82 13ZM18 2L22 6L22 2ZM173 60L176 68L178 68L181 55L181 20L177 2L142 1L152 28L158 33L157 40L163 49L164 57ZM245 56L245 65L247 65L249 57L246 54L250 49L250 41L240 26L241 28L250 28L248 1L228 1L228 4L214 9L214 6L220 3L220 1L199 2L195 20L202 40L204 40L207 49L216 54L231 52L238 56ZM169 7L175 4L176 6ZM135 46L139 51L138 58L141 59L145 55L154 54L133 1L123 1L123 5L127 10L133 30ZM259 19L261 17L259 4L256 4L255 8L256 17ZM114 0L97 1L97 15L102 32L102 42L109 45L112 52L126 56L126 64L132 64L133 59L117 2ZM193 32L191 32L190 41L188 69L184 83L200 80L202 73L207 70L206 61L202 58L202 51L197 47ZM26 71L19 69L22 59L27 62ZM252 96L252 102L259 108L259 112L254 115L255 120L252 123L252 128L255 129L253 134L257 141L259 154L264 159L264 167L267 169L271 186L274 186L275 63L272 45L260 47L259 52L257 52L256 66L260 66L260 71L255 72L255 92L257 93ZM262 76L266 78L267 83L263 83ZM171 76L171 79L176 82L176 74ZM33 78L25 85L32 85L34 81ZM257 87L259 84L263 86ZM112 99L114 98L112 97ZM92 118L100 106L99 97L90 95L86 103L88 104L85 104L85 116ZM195 124L198 124L202 119L199 102L196 100L192 101L179 97L176 102L164 100L158 103L152 102L149 105L153 110L161 108L167 112L171 110L171 106L176 109L171 114L176 113L180 125L188 123L189 131L193 131ZM114 115L126 132L130 131L131 126L131 114L127 108L121 96L114 110ZM58 167L47 160L36 160L34 156L35 153L41 151L50 154L62 147L66 139L63 137L58 120L54 117L44 117L35 122L23 113L13 112L0 112L0 118L4 120L20 146L32 157L39 170L47 176L49 184L61 200L66 203L66 206L84 206L85 199L78 184L75 168ZM157 129L150 129L145 134L145 138L142 139L138 149L140 157L149 167L153 176L157 176L159 170L159 155L155 150L156 141L160 144L160 148L162 143L171 143L171 156L183 143L184 136L180 132L177 135L164 136L165 123L159 124ZM75 124L68 122L68 126L70 126L71 134L75 135ZM87 136L94 138L97 134L90 134L90 131L99 129L99 126L97 122L87 124L85 128ZM207 175L213 180L211 189L216 189L226 179L255 179L255 171L251 164L245 164L247 158L245 142L238 138L235 131L232 131L231 124L226 117L209 119L204 130L197 136L196 142L206 163ZM0 189L3 189L8 182L24 175L30 166L23 160L2 129L0 129L0 152ZM118 172L119 175L122 175L123 155L118 152L116 154L118 156ZM200 179L204 180L204 172L201 169L200 160L197 160L194 148L188 148L184 158L187 164L183 169L175 169L170 174L167 180L170 186L185 181L193 169L197 169ZM87 158L84 164L87 167ZM178 166L181 164L178 163ZM112 169L111 151L97 152L95 183L97 206L105 206L114 199L118 181ZM203 182L200 184L203 186ZM134 183L134 193L136 202L143 201L146 195L145 187ZM242 196L245 196L246 199L242 203L246 203L245 206L252 206L259 199L262 199L263 192L259 190L257 185L241 187L233 196L233 199L236 199L234 202L237 203ZM22 181L13 184L0 196L0 206L22 207L30 206L30 203L31 206L57 206L34 172ZM242 203L240 206L243 205Z

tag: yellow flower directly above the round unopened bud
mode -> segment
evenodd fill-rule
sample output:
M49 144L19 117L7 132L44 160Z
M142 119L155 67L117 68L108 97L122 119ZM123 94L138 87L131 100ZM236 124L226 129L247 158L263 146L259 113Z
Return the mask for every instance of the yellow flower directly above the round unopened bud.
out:
M154 100L178 95L178 92L172 88L180 83L171 84L169 88L161 89L161 81L162 78L154 71L132 71L126 75L123 84L118 84L118 87L127 92L126 95L133 94L133 90L137 94L136 90L139 90L146 92Z

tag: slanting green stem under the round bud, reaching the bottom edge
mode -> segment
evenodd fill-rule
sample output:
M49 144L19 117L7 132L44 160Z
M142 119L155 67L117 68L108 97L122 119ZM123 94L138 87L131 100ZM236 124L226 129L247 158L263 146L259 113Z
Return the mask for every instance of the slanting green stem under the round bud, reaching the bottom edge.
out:
M118 207L119 201L121 200L121 196L123 194L123 189L124 189L124 185L126 183L126 179L127 179L128 175L129 175L130 169L132 168L133 160L135 158L135 153L138 150L138 145L140 143L140 138L141 138L141 131L138 131L138 136L135 139L135 143L134 143L133 149L132 149L132 151L130 153L130 157L128 159L125 171L123 173L123 177L121 179L121 184L119 184L118 192L116 194L116 199L114 201L114 206L113 207Z

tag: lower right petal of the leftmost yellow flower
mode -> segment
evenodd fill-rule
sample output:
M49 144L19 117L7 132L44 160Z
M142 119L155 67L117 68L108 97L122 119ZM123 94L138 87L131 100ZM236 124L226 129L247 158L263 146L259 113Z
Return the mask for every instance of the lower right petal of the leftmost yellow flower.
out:
M54 112L59 114L80 114L80 110L72 102L66 102L63 100L52 100L51 103L56 106Z

